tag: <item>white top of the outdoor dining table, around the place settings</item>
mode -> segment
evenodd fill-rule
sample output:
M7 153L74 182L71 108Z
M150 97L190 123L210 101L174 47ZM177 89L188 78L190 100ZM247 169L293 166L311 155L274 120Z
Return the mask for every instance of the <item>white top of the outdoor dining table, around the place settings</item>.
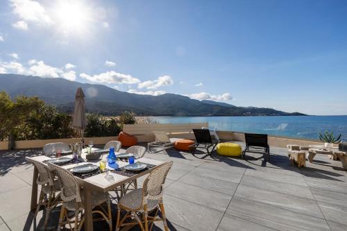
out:
M92 150L96 150L96 148L92 148ZM83 153L81 154L81 157L83 158L83 160L85 162L79 162L77 164L68 164L68 165L62 166L62 168L71 169L74 166L80 166L80 165L83 165L86 163L99 166L100 160L88 161L85 159L85 155L87 154L85 151L86 150L83 149ZM65 155L64 157L71 157L72 158L72 155ZM35 160L37 162L43 162L44 160L51 160L50 157L47 157L45 155L39 155L36 157L26 157L26 159L27 160ZM139 158L139 159L135 160L135 162L142 162L142 163L153 164L153 165L157 165L157 166L164 163L164 162L161 162L158 160L152 160L152 159L149 159L146 157ZM119 160L117 161L117 163L119 164L119 168L128 165L128 162L123 162L123 161L119 161ZM108 166L108 164L107 164L106 168L113 170L112 168L110 168ZM149 170L151 170L151 169L149 169ZM102 191L108 191L108 190L115 188L119 185L123 185L124 182L128 182L128 181L133 180L135 178L139 178L140 176L144 176L149 172L150 171L143 171L143 172L136 174L135 176L128 177L128 176L122 176L122 175L117 174L117 173L112 173L111 171L109 171L108 174L115 178L114 182L109 182L108 180L105 179L106 173L101 173L101 174L98 174L96 176L92 176L90 178L85 178L85 179L81 179L81 178L76 177L76 179L81 183L87 183L87 185L98 187Z

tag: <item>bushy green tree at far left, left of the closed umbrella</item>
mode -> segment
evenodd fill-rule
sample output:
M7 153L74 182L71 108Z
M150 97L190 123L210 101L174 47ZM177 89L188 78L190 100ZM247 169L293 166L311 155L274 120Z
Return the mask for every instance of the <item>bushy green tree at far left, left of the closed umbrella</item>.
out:
M58 139L74 137L71 117L45 105L37 97L0 92L0 140Z

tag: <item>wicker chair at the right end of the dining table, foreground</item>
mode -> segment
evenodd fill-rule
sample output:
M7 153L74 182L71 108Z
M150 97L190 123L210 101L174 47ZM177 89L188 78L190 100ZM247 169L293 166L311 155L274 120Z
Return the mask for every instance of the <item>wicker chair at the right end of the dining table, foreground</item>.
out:
M173 162L171 161L159 166L157 169L152 171L151 174L149 174L146 180L144 180L142 189L135 189L124 195L119 200L116 230L119 230L121 227L126 225L139 224L141 230L148 231L149 223L151 223L152 228L154 221L163 221L165 231L169 230L167 228L167 220L165 217L162 195L164 190L164 182L172 164ZM126 211L126 214L121 219L120 217L122 209ZM149 216L148 213L154 211L155 209L155 215ZM159 209L162 212L162 219L157 216ZM125 223L126 219L129 218L135 219L135 221ZM144 223L144 225L142 223Z

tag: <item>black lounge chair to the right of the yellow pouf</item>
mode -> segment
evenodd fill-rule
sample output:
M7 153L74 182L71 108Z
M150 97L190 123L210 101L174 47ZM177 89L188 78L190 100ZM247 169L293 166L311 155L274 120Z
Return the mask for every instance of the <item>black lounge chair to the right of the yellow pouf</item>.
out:
M246 139L246 148L242 151L242 159L246 155L246 152L249 153L260 153L264 152L267 155L267 160L270 160L270 147L267 144L267 135L266 134L251 134L244 133L244 138ZM252 148L251 150L249 148ZM264 148L264 151L262 149ZM265 159L265 157L264 157Z

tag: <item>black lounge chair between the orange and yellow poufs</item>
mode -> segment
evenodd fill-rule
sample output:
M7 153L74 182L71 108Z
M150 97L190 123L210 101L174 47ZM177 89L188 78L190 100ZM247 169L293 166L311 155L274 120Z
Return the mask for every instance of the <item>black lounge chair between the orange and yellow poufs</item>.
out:
M211 153L214 151L214 148L216 148L217 144L219 143L219 140L214 142L212 140L210 130L208 129L193 129L193 132L196 143L189 146L189 148L191 148L192 150L192 153L194 154L196 148L205 148L208 155L211 155ZM212 150L210 150L211 147Z

